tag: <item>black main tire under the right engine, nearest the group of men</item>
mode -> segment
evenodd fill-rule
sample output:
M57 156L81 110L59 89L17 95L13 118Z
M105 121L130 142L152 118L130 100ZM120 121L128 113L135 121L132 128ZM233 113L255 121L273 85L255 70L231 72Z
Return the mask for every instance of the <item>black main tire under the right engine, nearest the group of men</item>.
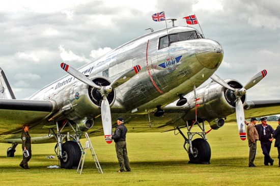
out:
M189 153L189 163L210 164L211 148L209 143L203 138L197 138L192 141L193 154Z

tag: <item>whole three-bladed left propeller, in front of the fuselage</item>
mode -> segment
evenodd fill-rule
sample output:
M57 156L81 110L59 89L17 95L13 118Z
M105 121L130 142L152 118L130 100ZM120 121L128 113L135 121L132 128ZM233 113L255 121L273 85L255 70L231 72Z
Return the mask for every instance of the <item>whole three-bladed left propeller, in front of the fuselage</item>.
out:
M77 71L76 69L70 67L65 63L61 63L61 68L66 72L68 72L69 74L71 74L72 76L74 76L75 78L79 79L80 81L88 84L89 86L95 87L99 90L101 96L103 97L103 100L101 102L101 118L102 118L104 137L107 143L111 143L112 139L108 137L112 136L112 123L111 123L110 105L107 99L107 95L111 91L113 91L113 88L116 88L117 86L120 86L121 84L125 83L130 78L132 78L135 74L141 71L141 67L139 65L136 65L132 69L125 71L118 78L116 78L116 80L114 80L113 82L110 83L110 85L107 86L99 86L95 84L87 76L83 75L81 72Z

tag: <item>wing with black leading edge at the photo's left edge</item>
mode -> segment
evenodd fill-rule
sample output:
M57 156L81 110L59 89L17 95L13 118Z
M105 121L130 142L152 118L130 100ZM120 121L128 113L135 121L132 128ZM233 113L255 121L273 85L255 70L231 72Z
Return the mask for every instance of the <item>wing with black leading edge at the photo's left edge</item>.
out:
M51 101L0 100L1 135L21 131L24 124L30 128L45 122L53 113L55 105Z

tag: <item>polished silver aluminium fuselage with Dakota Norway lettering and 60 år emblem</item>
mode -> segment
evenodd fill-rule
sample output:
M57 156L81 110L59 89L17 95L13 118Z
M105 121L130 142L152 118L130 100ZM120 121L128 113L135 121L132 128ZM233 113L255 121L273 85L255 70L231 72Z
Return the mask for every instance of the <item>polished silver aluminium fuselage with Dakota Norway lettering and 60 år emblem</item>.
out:
M120 74L139 65L141 71L126 83L118 86L116 102L111 110L118 112L147 113L156 106L167 105L179 94L187 94L193 85L199 86L219 67L223 51L219 43L208 39L192 39L171 43L169 47L158 49L159 38L168 34L195 30L192 27L171 27L132 40L99 59L87 64L80 72L87 76L105 76L110 81ZM166 58L181 56L176 67L163 68ZM71 65L71 64L70 64ZM74 91L71 87L81 83L67 75L31 96L30 100L54 100L58 109L67 104L65 97ZM87 88L88 85L85 85ZM68 95L67 95L68 94ZM83 91L82 94L87 94ZM67 96L66 96L67 95ZM70 98L71 99L71 98ZM73 98L74 99L74 98Z

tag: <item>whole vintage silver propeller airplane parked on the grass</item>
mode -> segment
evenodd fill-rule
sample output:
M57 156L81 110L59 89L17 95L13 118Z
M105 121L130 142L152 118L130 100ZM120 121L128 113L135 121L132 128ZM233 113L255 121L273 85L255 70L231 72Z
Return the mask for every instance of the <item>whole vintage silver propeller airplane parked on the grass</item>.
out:
M57 142L60 166L69 169L79 163L82 133L104 134L110 143L106 137L116 125L111 117L121 115L129 132L178 129L185 138L190 162L209 163L211 149L204 121L218 129L226 117L233 120L236 113L244 139L243 107L245 112L271 107L262 115L279 113L277 100L246 102L246 89L265 77L265 70L242 87L238 81L223 81L214 75L222 58L223 49L217 41L205 39L195 28L173 26L134 39L78 70L61 63L69 74L24 100L15 99L0 69L0 142L12 144L7 156L14 157L21 143L21 127L27 124L32 143ZM213 82L199 87L210 77ZM258 113L254 116L261 115ZM190 132L193 125L202 132ZM183 127L188 129L188 137L181 132ZM201 138L192 141L195 134Z

